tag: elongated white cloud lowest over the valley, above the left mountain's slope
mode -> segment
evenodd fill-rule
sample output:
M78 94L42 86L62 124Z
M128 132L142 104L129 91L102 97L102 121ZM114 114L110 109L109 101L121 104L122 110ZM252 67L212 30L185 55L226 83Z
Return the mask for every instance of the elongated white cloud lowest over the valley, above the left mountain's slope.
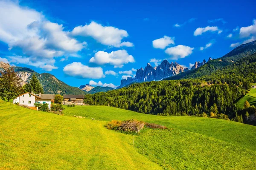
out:
M81 62L73 62L68 64L63 69L64 73L73 77L83 77L91 79L104 78L103 70L101 67L89 67L83 65Z

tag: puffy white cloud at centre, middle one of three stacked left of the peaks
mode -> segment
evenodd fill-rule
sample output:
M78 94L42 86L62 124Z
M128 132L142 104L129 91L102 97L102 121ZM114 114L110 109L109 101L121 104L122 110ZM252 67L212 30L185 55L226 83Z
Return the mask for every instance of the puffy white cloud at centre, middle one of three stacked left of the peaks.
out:
M112 51L111 53L98 51L94 57L90 58L89 62L94 62L99 65L111 64L114 65L114 68L122 68L124 64L135 62L135 60L126 50L118 50Z

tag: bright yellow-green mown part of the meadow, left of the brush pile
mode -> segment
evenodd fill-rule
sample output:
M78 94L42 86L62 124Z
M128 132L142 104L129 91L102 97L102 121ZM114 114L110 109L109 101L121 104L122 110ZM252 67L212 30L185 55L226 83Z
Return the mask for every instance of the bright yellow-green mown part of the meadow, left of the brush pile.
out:
M105 124L0 101L0 169L160 169Z

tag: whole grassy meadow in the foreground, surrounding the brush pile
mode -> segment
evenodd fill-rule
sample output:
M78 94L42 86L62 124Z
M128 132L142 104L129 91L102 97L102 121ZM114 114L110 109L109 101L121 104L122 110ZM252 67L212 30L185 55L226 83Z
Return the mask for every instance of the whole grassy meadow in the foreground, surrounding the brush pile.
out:
M0 102L0 169L256 169L256 127L251 125L107 106L65 108L59 116ZM133 145L134 136L105 128L111 119L169 129L146 128Z

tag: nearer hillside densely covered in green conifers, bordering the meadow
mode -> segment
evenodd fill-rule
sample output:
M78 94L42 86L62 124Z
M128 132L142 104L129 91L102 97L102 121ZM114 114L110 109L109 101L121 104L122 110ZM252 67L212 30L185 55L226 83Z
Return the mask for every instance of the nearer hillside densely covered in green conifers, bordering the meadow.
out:
M236 119L238 113L244 116L244 112L235 102L250 90L250 82L256 82L256 54L200 79L133 84L116 91L86 95L84 102L109 103L116 108L148 114L201 116L212 112Z

